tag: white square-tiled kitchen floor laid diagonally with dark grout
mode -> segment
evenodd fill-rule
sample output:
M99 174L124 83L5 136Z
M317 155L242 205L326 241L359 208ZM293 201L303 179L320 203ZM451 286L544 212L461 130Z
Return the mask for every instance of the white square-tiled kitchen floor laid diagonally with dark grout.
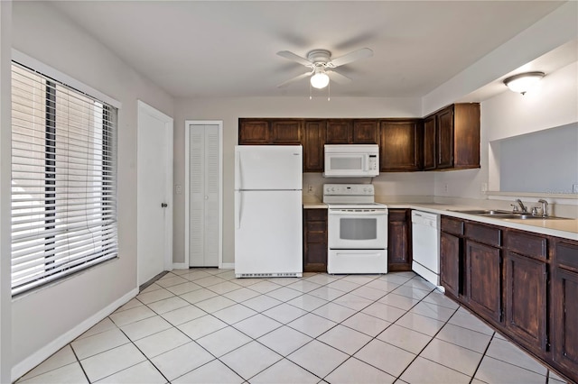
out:
M174 270L19 383L560 383L413 272Z

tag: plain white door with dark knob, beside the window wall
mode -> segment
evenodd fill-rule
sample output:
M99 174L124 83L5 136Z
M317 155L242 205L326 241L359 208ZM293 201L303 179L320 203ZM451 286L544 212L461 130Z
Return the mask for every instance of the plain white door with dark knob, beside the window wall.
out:
M138 101L137 278L172 270L172 118Z

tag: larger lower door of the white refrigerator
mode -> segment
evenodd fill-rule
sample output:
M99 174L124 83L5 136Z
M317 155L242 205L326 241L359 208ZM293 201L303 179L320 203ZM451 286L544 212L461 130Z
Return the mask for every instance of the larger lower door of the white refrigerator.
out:
M236 192L235 274L303 275L301 191Z

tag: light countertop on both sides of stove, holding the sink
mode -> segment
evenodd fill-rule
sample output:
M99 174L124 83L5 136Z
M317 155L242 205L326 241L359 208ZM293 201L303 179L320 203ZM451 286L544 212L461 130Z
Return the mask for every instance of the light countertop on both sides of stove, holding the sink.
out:
M508 228L519 229L522 231L541 233L548 236L562 237L578 241L578 219L531 219L531 220L517 220L517 219L499 219L494 217L462 214L454 212L455 210L466 209L484 209L480 206L456 206L444 204L426 204L426 203L385 203L390 209L395 208L409 208L420 210L424 212L431 212L438 215L446 215L458 217L461 219L472 220L485 224L501 225ZM303 208L327 208L327 205L321 202L307 202L303 203Z

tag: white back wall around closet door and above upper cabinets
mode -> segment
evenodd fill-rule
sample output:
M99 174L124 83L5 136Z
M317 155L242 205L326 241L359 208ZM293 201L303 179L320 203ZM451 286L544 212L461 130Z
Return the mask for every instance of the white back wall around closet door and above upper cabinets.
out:
M223 262L234 262L234 148L239 117L421 117L415 98L244 97L177 99L174 106L174 184L184 186L184 121L223 121ZM173 261L184 261L184 194L174 196Z

